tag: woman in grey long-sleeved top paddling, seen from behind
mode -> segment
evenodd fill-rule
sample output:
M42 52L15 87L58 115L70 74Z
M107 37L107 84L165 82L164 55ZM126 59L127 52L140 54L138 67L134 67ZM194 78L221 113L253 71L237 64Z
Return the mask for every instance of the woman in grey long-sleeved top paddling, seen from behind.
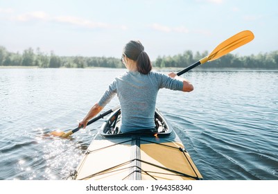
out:
M173 72L166 76L151 71L150 58L139 41L132 40L125 45L121 61L128 71L115 78L101 99L80 121L79 126L86 127L87 122L101 112L117 94L121 105L121 132L152 129L155 127L155 104L159 89L193 90L189 81Z

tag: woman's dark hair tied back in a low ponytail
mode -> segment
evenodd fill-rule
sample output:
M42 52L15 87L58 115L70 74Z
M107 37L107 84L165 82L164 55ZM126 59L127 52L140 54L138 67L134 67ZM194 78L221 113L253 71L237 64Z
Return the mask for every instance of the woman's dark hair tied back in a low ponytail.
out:
M128 44L125 44L123 48L123 54L125 54L131 60L137 62L137 69L140 73L148 74L152 70L152 64L148 54L144 51L144 46L141 42L131 40Z

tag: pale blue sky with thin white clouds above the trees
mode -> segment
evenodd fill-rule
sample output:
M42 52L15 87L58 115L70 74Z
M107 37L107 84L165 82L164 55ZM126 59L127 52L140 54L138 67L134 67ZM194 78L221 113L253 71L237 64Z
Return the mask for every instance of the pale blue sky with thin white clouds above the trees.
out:
M10 52L31 47L61 56L121 58L123 46L135 39L155 60L213 51L242 30L255 38L233 54L277 51L278 1L0 0L0 46Z

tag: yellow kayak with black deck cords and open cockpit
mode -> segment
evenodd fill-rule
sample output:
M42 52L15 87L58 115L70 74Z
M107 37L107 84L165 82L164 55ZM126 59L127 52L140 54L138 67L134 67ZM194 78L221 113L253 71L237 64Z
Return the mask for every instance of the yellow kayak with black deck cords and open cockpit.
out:
M87 148L73 179L202 179L173 127L158 109L155 130L121 133L121 109L110 114Z

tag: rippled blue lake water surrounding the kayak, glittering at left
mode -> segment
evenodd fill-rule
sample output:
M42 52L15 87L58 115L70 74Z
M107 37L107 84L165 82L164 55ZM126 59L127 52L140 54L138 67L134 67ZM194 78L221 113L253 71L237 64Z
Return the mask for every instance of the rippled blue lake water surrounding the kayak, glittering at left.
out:
M103 120L71 139L125 69L0 69L0 179L66 179ZM163 71L168 73L168 71ZM191 93L162 89L157 107L204 179L278 179L278 71L191 71ZM115 98L104 111L118 105Z

